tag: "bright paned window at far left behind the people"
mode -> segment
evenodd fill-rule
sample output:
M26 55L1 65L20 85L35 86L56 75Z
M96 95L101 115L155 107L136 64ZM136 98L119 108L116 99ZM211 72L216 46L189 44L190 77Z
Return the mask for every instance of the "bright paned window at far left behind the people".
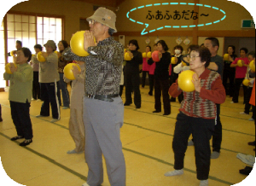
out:
M54 40L57 45L62 40L62 18L38 16L38 15L19 15L7 14L7 25L3 22L0 27L0 77L3 77L5 65L5 48L10 52L15 50L16 40L22 42L22 46L35 53L34 45L44 44L48 40ZM7 45L4 45L4 32L7 33ZM13 62L13 57L9 56L7 62ZM5 87L5 81L0 78L0 88Z

